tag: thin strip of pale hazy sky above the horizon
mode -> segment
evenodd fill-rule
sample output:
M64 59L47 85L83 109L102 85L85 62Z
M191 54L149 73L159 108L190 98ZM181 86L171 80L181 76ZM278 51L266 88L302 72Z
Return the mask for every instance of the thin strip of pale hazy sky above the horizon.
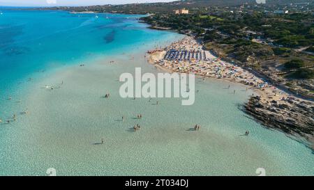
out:
M82 6L169 1L171 0L0 0L0 6Z

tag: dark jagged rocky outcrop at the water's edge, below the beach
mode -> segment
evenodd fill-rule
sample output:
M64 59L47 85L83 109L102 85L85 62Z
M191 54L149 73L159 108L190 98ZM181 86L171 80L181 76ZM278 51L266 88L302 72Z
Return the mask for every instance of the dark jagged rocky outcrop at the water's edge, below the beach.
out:
M314 150L314 104L297 99L264 102L255 96L244 111L262 125L278 129Z

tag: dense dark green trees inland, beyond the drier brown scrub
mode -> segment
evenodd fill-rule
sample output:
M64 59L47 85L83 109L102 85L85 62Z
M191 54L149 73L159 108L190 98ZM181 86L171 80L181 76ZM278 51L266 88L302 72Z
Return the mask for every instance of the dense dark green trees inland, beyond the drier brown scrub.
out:
M259 36L271 39L278 46L296 48L314 45L312 17L310 13L267 15L262 12L253 12L252 14L225 12L218 15L199 11L199 13L190 15L156 14L144 17L143 20L154 26L170 27L178 31L192 31L198 35L200 32L197 32L197 29L202 28L215 29L221 35L230 38L250 40ZM253 31L253 34L249 33L250 31ZM276 49L274 52L280 55L289 53L289 49Z

